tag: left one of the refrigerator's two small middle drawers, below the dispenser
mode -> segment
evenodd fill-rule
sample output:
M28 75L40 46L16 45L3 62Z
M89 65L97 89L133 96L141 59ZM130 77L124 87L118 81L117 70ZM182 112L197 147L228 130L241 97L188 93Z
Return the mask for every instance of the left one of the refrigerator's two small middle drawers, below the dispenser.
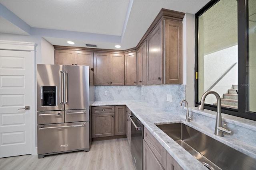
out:
M37 124L64 123L64 111L38 111Z

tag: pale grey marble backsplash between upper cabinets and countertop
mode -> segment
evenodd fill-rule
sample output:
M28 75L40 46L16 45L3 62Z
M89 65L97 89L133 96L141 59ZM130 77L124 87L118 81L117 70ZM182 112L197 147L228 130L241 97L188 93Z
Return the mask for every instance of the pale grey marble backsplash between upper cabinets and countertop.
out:
M105 92L107 95L105 95ZM166 101L166 95L172 95L172 102ZM96 101L111 100L142 100L154 107L163 108L166 111L183 113L183 105L180 102L186 98L186 85L166 84L150 86L95 86Z

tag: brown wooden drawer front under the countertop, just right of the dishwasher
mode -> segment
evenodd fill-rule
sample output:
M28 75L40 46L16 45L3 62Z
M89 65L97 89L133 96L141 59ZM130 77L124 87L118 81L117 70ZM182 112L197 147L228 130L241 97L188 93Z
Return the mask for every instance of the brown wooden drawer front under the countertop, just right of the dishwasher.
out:
M144 140L164 169L166 169L166 150L146 128L144 128Z

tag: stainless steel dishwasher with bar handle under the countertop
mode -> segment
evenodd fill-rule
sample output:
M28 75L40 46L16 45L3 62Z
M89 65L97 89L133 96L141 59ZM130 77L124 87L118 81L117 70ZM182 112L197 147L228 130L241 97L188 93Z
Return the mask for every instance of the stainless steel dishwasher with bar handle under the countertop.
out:
M131 153L136 170L143 167L143 125L131 112Z

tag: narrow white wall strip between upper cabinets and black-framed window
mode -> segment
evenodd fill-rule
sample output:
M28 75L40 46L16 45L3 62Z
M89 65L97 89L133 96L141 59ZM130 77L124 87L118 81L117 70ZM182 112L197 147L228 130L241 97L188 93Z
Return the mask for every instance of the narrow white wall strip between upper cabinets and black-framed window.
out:
M186 13L183 19L183 84L186 84L188 106L194 106L194 72L195 72L195 19Z

